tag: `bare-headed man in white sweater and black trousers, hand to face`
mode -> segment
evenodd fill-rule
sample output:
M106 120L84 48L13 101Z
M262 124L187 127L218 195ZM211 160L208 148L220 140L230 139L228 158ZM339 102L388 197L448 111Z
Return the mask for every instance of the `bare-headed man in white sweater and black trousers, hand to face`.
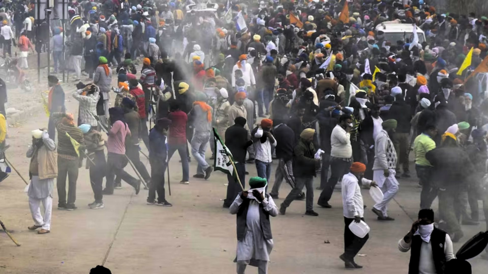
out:
M339 123L332 130L330 136L330 170L331 175L327 185L320 194L318 205L325 208L331 208L328 201L332 196L334 187L339 179L347 173L351 166L352 146L350 131L353 127L351 117L343 114L339 117Z

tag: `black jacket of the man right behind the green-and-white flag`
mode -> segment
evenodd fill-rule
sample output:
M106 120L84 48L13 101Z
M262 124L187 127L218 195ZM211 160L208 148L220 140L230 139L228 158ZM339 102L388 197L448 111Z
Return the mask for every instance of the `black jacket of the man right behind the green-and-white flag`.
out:
M225 146L232 153L236 162L244 162L247 147L252 144L247 140L247 130L243 126L235 124L225 131Z

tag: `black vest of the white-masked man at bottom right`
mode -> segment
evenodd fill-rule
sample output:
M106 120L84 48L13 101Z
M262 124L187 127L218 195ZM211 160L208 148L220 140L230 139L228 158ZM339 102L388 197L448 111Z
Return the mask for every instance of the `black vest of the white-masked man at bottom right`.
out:
M446 263L446 254L444 253L444 245L446 243L446 232L434 227L430 235L430 244L432 246L432 255L434 258L434 266L437 274L444 274L444 265ZM419 273L420 261L420 246L422 245L422 238L420 235L412 237L412 245L410 248L410 263L408 264L408 274Z

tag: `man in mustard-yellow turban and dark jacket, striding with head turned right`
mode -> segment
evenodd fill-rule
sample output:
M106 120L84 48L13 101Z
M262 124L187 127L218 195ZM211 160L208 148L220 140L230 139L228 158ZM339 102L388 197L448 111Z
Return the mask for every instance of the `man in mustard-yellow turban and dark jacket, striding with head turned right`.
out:
M298 144L293 149L295 187L280 205L281 215L285 215L286 208L290 206L291 202L302 195L304 186L306 187L305 215L319 215L313 211L313 177L316 176L315 171L320 167L320 159L315 158L316 150L313 146L314 134L314 129L304 129L300 134Z

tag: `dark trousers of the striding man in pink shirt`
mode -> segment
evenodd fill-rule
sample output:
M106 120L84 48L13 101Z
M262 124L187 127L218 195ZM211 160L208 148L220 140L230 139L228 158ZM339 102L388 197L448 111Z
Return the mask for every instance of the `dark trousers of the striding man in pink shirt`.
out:
M115 175L119 176L124 180L126 183L131 185L132 187L136 188L139 180L132 177L130 174L125 172L123 168L127 165L127 158L125 155L116 154L116 153L108 153L107 157L107 185L106 185L106 192L107 193L114 193L114 177Z

